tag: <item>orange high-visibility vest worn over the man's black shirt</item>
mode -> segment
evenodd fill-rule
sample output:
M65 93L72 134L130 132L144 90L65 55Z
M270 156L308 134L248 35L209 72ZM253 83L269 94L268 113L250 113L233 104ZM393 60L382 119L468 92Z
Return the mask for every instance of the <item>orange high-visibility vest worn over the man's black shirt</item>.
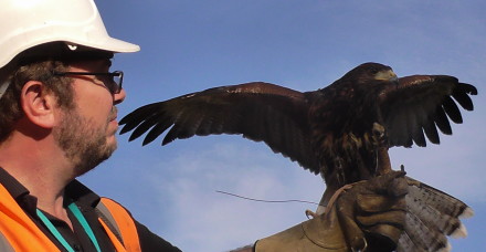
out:
M117 252L141 252L134 219L120 204L102 198L96 212ZM0 185L0 251L53 252L60 249L27 216Z

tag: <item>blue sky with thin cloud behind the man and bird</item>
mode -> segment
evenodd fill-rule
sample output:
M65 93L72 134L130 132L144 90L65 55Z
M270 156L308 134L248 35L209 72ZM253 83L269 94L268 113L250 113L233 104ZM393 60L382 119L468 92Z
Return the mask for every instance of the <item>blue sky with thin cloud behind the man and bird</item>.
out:
M298 91L324 87L363 62L399 76L448 74L475 84L476 109L439 146L394 148L393 166L463 199L475 210L454 251L486 251L486 66L484 1L146 0L97 2L112 36L141 51L115 57L126 75L120 117L152 102L213 86L265 81ZM306 220L303 203L324 183L261 143L194 137L141 147L119 137L112 159L82 177L183 251L225 251Z

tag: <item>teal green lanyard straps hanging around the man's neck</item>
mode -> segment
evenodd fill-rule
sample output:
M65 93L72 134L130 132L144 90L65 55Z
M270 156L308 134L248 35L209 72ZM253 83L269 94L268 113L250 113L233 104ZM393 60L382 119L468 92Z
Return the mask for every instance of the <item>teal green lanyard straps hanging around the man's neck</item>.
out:
M86 219L83 217L83 213L81 213L80 209L76 207L74 202L70 203L67 208L74 213L74 217L76 217L77 221L80 221L81 225L83 225L84 231L89 237L89 240L93 242L93 244L96 246L96 251L101 252L98 241L95 238L95 234L93 233L93 230L91 229L89 224L87 223ZM57 239L57 241L61 242L61 244L68 251L74 252L73 248L71 248L70 243L61 235L61 233L57 231L57 229L52 224L52 222L45 217L45 214L41 210L36 210L39 218L41 218L42 222L47 227L49 231Z

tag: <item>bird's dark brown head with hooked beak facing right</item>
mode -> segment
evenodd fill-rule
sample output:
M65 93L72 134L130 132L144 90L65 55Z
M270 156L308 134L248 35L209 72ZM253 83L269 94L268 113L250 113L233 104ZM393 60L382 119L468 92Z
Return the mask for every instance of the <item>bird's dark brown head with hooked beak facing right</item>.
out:
M374 83L376 81L383 81L398 84L399 78L393 70L380 63L368 62L358 65L349 71L342 78L348 78L353 83Z

